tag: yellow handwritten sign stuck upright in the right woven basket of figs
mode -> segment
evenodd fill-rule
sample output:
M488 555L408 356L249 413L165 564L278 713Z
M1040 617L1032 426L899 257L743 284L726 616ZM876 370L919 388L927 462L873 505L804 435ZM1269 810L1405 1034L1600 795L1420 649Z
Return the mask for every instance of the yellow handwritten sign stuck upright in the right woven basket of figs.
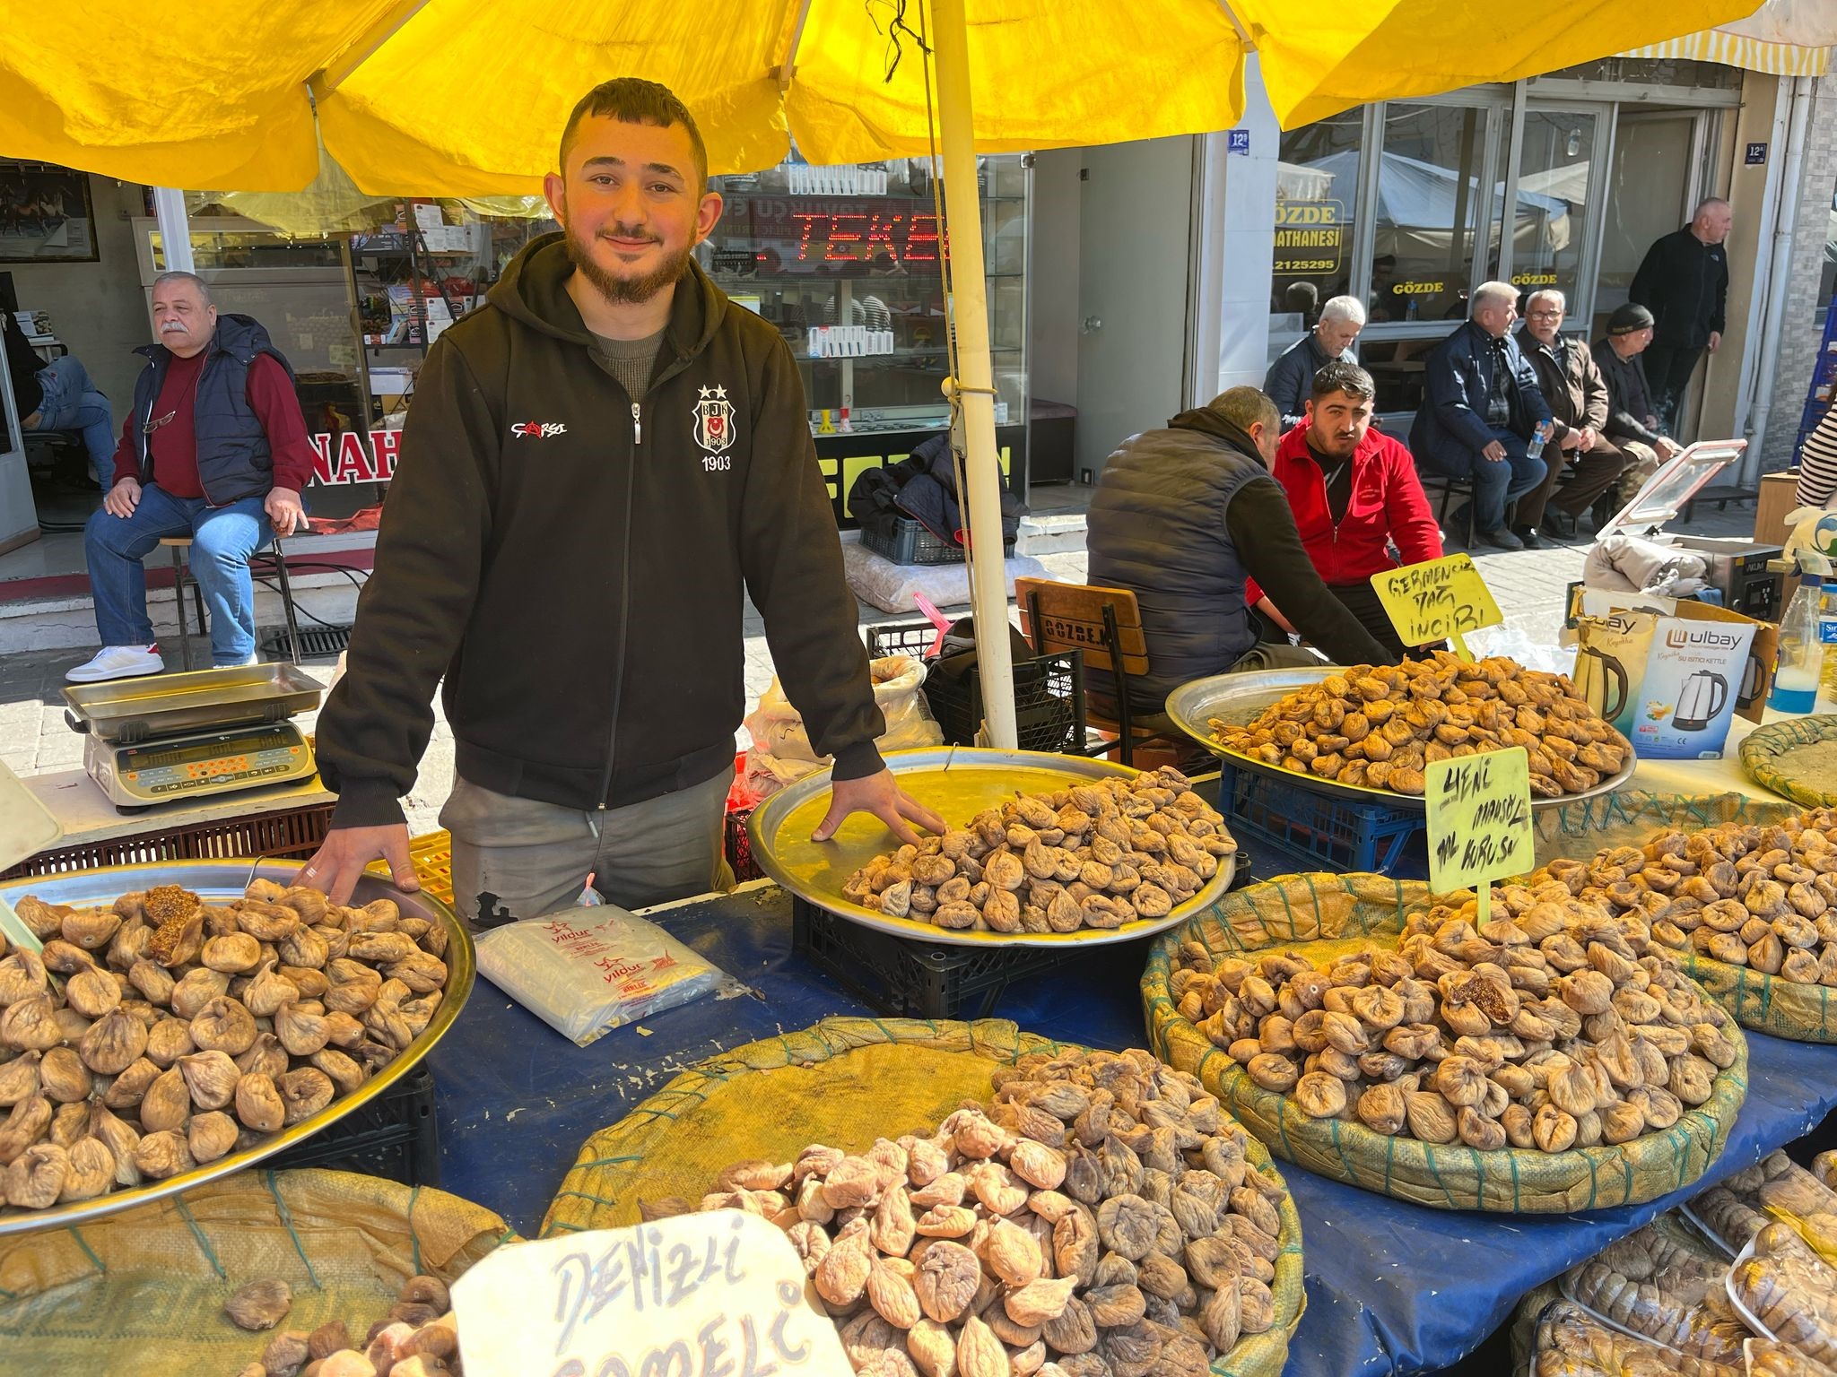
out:
M1530 870L1530 756L1525 747L1431 760L1422 767L1429 806L1429 889L1475 889L1481 922L1490 914L1488 881Z

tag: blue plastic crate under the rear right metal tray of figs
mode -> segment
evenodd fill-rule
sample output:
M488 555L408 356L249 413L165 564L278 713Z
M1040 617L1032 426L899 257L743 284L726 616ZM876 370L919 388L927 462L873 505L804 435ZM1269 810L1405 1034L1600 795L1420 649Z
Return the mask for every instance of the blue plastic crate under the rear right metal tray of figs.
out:
M1301 868L1396 874L1409 843L1426 835L1420 810L1317 793L1229 760L1218 797L1231 834L1255 850L1260 879Z

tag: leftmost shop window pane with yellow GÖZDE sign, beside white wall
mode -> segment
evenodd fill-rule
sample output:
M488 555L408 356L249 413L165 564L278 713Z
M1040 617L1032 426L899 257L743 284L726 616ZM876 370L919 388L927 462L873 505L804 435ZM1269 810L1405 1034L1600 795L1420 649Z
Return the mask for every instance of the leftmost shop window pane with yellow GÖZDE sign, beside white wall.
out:
M1313 325L1321 303L1352 283L1352 217L1359 187L1354 110L1282 134L1275 189L1269 345L1286 349Z

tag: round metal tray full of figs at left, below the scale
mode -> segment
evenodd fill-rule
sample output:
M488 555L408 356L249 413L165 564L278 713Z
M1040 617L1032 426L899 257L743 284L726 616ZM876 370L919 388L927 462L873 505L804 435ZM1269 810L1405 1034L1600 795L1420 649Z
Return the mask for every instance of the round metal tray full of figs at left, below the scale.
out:
M423 894L173 861L0 887L0 1232L66 1225L310 1136L419 1061L472 986Z

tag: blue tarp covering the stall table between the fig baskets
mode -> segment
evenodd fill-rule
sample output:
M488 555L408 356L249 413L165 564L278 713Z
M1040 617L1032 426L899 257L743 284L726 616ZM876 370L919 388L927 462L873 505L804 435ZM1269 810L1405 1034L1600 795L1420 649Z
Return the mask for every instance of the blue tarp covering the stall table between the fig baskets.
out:
M702 1001L577 1048L479 979L430 1058L443 1188L533 1236L588 1136L680 1070L832 1013L867 1013L792 953L777 887L693 901L659 922L761 999ZM1080 953L1009 990L992 1013L1089 1047L1143 1047L1146 940ZM1451 1214L1280 1164L1301 1212L1308 1313L1290 1377L1437 1371L1492 1333L1530 1287L1598 1252L1712 1181L1809 1133L1837 1107L1837 1047L1749 1034L1749 1094L1727 1151L1675 1197L1589 1215Z

